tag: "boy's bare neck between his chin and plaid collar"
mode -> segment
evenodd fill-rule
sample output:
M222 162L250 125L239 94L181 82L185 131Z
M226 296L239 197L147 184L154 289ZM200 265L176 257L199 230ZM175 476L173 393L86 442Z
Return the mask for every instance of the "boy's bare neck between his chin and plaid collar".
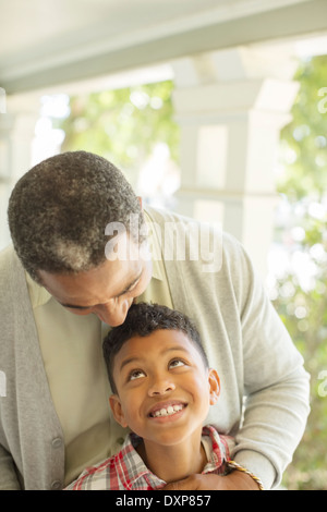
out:
M202 473L207 463L201 435L173 446L157 444L144 439L136 450L152 473L167 483Z

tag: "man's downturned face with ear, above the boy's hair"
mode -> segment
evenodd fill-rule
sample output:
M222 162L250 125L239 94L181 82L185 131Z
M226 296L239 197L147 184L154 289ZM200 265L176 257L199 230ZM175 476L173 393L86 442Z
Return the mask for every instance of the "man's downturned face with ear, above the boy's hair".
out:
M111 327L123 324L135 297L147 288L152 261L142 258L138 246L124 233L120 243L128 258L106 260L98 267L76 275L39 270L43 285L75 315L94 313Z

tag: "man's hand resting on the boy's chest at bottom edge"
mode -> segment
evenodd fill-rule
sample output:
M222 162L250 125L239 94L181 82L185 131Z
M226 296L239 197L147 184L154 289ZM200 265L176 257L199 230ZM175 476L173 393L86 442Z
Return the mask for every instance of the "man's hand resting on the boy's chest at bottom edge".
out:
M191 475L180 481L167 484L161 490L259 490L251 476L233 471L227 476Z

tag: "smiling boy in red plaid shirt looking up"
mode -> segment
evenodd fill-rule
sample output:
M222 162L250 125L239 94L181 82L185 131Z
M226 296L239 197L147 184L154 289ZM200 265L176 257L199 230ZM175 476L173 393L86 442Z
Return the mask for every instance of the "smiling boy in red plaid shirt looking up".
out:
M220 382L185 315L135 304L105 338L104 355L110 407L132 434L117 455L86 468L66 489L160 489L191 474L240 470L230 461L231 438L203 428Z

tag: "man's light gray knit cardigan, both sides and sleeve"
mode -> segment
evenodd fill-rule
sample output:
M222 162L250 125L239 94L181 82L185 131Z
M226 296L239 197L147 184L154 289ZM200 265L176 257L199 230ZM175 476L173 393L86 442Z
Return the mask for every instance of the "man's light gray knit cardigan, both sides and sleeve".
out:
M271 488L305 428L308 375L303 359L239 242L210 231L210 246L216 244L210 269L193 222L154 209L148 214L161 233L167 222L174 225L177 236L162 237L173 305L196 322L210 366L220 377L221 394L207 423L235 437L233 459ZM180 253L171 251L174 241ZM203 260L194 256L194 247ZM0 254L0 371L7 383L5 393L0 393L0 489L60 489L62 429L25 273L12 247Z

